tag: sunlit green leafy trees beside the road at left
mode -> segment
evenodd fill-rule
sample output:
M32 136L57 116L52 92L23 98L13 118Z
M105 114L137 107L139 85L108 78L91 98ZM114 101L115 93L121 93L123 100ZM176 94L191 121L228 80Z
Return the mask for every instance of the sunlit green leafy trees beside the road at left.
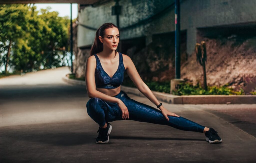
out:
M15 71L38 70L41 64L46 68L60 66L62 50L68 48L69 19L49 10L41 9L39 15L36 6L0 6L0 66L6 65L8 47L8 65Z

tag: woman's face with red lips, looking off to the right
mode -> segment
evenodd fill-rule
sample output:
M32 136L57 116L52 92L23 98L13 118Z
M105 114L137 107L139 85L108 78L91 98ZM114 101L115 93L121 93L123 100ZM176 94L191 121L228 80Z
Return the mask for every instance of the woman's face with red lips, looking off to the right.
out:
M105 30L104 38L99 36L100 41L103 43L103 48L116 50L119 43L119 30L116 27L108 28ZM113 46L116 45L116 46Z

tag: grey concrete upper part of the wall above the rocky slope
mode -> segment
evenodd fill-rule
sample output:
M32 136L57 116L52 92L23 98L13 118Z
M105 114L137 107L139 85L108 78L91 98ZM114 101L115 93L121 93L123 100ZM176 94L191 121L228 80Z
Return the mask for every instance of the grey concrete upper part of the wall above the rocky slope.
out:
M121 0L120 39L132 39L146 36L146 45L151 42L153 34L172 32L174 26L174 5L166 12L135 28L122 30L140 20L147 19L161 11L174 1L170 0ZM112 15L114 1L101 6L88 6L80 10L78 20L86 26L96 30L105 22L116 24L116 16ZM187 53L194 51L197 37L197 28L223 26L256 22L255 0L184 0L180 1L181 30L187 32ZM78 47L90 47L95 38L96 30L78 26Z

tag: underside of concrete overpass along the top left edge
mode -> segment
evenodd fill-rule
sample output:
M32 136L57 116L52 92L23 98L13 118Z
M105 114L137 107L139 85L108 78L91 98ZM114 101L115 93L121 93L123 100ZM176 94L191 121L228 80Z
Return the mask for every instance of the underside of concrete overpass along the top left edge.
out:
M79 4L94 4L102 2L104 0L0 0L0 4L12 4L12 3L79 3Z

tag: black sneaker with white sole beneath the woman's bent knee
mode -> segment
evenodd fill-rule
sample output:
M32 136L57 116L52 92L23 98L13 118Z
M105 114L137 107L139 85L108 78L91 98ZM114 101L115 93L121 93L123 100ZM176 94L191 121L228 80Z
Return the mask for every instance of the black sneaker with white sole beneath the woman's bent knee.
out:
M112 125L108 122L106 128L99 127L99 136L96 138L96 143L108 143L109 142L109 135L112 130Z

